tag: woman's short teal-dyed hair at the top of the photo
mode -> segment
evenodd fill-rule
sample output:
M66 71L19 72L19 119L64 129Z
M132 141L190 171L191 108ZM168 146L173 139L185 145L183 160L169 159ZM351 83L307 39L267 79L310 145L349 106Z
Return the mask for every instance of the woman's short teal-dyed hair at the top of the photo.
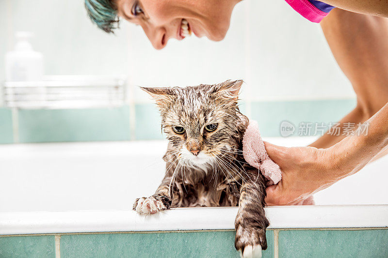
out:
M113 0L85 0L89 18L98 28L108 33L118 28L119 18Z

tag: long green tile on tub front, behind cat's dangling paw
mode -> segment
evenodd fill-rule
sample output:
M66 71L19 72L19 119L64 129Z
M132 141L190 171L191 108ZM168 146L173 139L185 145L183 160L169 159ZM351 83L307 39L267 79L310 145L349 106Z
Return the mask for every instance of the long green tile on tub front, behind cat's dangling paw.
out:
M92 234L61 237L61 257L240 257L234 247L234 231ZM267 231L268 249L273 257L274 234Z

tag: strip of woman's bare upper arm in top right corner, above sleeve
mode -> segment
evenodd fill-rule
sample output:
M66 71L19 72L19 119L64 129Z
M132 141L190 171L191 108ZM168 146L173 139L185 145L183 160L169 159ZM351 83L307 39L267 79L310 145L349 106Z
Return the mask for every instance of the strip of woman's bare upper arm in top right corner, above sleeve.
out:
M320 0L340 9L381 17L388 17L387 0Z

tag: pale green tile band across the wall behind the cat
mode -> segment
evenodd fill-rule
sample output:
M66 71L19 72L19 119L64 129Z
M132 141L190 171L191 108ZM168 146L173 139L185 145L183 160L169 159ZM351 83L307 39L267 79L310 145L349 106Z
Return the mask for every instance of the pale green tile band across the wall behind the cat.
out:
M281 121L336 122L356 105L355 100L260 101L251 103L251 119L261 135L280 136ZM246 114L248 105L240 103ZM19 110L19 139L27 142L129 140L129 106L93 109ZM135 139L164 139L155 104L135 105ZM296 136L296 131L294 135ZM0 143L12 143L11 110L0 108Z

